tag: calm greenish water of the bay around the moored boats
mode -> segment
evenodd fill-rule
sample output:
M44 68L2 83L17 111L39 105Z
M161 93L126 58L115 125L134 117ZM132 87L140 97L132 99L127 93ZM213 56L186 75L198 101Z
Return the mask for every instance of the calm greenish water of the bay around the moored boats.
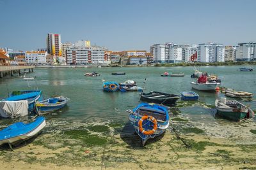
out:
M256 94L256 66L252 72L238 71L241 66L209 66L200 67L201 71L210 74L217 74L221 78L221 86L244 90ZM95 71L102 76L85 77L84 73ZM185 73L184 77L161 77L165 71L169 73ZM112 72L125 72L125 75L113 76ZM43 91L44 98L62 95L70 98L66 108L51 115L49 119L70 120L74 122L88 121L124 121L128 119L129 113L125 110L132 109L140 103L138 92L103 92L102 79L106 81L124 82L135 80L138 86L145 87L145 91L156 90L173 94L180 94L182 91L191 90L190 78L193 67L102 67L102 68L36 68L34 73L27 76L36 76L35 81L29 81L30 86L37 85ZM0 99L7 97L8 91L28 90L28 83L19 77L3 78L0 80ZM196 90L194 90L196 91ZM220 92L196 91L200 101L207 104L214 104L216 98L223 96ZM253 101L243 101L256 110L255 96ZM184 108L181 112L191 117L191 120L198 120L200 115L207 115L199 118L202 122L211 122L216 119L212 117L211 111L204 108ZM1 120L2 121L2 120ZM4 120L3 120L4 121ZM5 120L7 121L7 120ZM217 120L218 121L218 120Z

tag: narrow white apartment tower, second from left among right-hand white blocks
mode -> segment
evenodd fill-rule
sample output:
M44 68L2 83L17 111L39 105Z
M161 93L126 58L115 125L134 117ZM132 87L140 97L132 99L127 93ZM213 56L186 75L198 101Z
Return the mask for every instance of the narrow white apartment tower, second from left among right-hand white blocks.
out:
M176 44L169 44L169 61L182 62L182 47Z

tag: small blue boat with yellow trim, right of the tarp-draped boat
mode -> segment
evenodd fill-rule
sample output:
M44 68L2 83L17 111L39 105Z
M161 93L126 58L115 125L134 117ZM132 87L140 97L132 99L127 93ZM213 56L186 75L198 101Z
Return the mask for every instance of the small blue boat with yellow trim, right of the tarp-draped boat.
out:
M67 97L59 96L46 99L36 103L38 111L54 111L60 110L67 105L69 99Z

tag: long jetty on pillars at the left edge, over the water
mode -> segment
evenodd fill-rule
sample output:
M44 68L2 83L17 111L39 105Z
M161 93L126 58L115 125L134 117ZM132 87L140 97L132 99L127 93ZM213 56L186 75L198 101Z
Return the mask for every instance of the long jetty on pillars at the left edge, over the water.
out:
M20 75L20 71L28 69L28 73L33 72L33 68L35 66L0 66L0 78L3 78L4 76L10 74L13 76L13 74L17 73L18 76Z

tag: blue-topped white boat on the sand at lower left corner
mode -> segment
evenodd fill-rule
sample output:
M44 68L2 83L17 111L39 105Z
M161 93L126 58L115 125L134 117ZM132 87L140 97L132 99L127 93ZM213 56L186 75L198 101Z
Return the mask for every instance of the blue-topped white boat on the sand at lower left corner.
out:
M12 144L24 141L38 134L45 125L44 117L37 117L34 122L29 124L24 124L23 122L12 124L0 131L0 145L8 143L10 148L12 148Z

